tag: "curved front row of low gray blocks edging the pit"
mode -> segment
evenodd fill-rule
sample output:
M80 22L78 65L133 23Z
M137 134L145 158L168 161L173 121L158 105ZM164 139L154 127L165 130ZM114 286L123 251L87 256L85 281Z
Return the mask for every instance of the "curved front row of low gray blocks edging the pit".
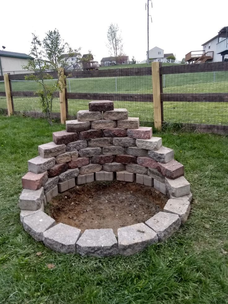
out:
M117 239L112 229L86 229L84 233L63 223L56 224L43 211L22 214L25 231L35 240L43 241L60 253L79 253L82 256L132 255L158 241L166 240L185 223L190 212L188 200L168 200L164 212L145 223L118 228Z

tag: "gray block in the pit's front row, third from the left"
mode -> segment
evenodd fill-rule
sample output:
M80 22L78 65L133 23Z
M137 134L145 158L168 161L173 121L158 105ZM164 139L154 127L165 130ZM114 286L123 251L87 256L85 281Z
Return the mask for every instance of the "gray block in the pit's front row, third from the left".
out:
M118 244L112 229L86 229L76 243L77 253L95 257L118 254Z

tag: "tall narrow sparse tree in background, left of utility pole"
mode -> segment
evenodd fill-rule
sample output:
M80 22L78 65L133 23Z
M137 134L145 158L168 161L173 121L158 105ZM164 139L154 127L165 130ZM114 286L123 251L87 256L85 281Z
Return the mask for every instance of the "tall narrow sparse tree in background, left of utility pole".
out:
M109 48L110 55L114 54L117 63L117 57L123 53L123 44L122 44L123 39L121 37L119 26L117 24L111 23L109 25L107 31L107 39L108 39L107 47Z

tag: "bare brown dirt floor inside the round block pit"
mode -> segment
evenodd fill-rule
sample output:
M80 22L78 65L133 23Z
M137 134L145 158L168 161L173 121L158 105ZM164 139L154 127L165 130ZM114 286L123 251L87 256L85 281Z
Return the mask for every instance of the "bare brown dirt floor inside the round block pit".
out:
M112 228L145 222L163 211L168 198L137 183L93 182L75 186L53 198L47 213L64 224L85 229Z

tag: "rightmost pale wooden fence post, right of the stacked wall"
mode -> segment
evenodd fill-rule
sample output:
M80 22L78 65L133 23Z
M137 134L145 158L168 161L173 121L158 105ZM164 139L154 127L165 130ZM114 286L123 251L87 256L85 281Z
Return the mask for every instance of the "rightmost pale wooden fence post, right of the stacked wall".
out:
M159 62L152 62L152 85L154 104L154 126L161 130L161 95L160 95L160 75Z

